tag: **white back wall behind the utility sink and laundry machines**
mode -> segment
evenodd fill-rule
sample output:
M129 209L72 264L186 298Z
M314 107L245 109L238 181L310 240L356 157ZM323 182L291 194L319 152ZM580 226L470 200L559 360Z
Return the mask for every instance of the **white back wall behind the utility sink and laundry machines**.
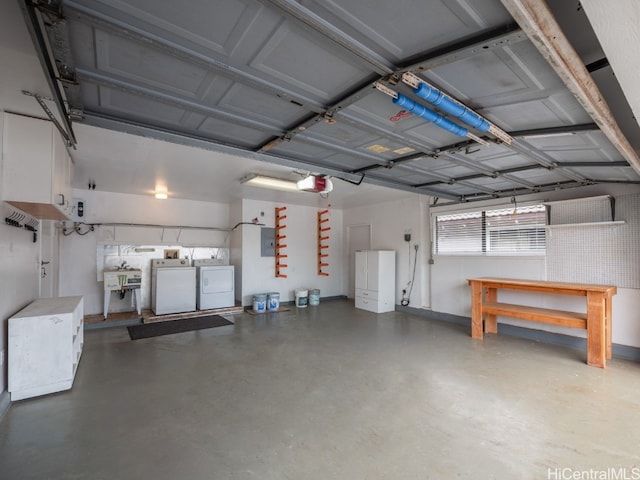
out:
M227 204L174 199L157 200L151 196L88 190L74 190L74 197L83 198L86 201L85 223L216 227L226 230L230 228ZM83 295L86 315L103 311L103 284L97 281L98 242L175 244L176 241L189 242L189 236L194 238L197 234L186 230L181 233L179 229L167 229L163 232L161 228L133 227L116 229L115 235L112 232L114 232L113 227L104 227L87 235L73 233L60 238L60 296ZM228 231L214 232L212 238L220 244L210 246L229 246ZM158 258L161 258L161 255ZM150 285L150 282L147 284ZM127 301L130 302L125 299L125 302ZM118 306L117 300L112 298L111 307L113 311L119 311L124 306Z

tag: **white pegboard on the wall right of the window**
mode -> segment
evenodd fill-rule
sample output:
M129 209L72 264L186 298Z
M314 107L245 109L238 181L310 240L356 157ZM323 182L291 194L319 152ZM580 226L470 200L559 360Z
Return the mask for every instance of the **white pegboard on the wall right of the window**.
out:
M615 219L623 224L598 224L611 221L608 200L552 206L556 227L547 231L549 280L640 288L640 195L615 200Z

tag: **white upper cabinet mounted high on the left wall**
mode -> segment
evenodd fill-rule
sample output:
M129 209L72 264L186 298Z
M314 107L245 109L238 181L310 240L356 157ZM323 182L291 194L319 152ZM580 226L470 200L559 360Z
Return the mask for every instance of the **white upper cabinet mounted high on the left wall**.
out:
M71 216L72 163L48 120L5 113L2 200L41 219Z

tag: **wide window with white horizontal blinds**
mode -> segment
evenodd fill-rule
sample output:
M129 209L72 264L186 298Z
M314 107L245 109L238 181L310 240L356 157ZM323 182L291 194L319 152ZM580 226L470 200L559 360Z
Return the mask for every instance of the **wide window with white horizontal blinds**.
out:
M436 215L436 253L544 255L544 205Z

